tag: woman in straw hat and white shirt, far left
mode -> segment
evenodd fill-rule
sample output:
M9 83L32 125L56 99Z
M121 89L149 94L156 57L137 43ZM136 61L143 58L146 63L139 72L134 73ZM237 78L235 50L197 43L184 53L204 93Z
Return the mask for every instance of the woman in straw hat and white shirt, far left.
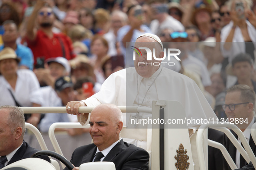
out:
M19 61L10 47L0 52L0 105L39 107L43 99L36 75L29 69L18 69ZM36 113L26 120L34 126L39 121L40 114Z

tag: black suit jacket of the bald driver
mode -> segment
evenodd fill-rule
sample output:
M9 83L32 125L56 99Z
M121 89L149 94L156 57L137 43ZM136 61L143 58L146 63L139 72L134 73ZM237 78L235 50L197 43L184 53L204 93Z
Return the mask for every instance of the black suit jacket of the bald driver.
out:
M92 162L97 146L94 144L76 148L71 157L71 164L79 167L83 163ZM113 162L116 170L148 170L149 154L142 148L123 142L115 145L103 161ZM64 170L68 170L66 167Z

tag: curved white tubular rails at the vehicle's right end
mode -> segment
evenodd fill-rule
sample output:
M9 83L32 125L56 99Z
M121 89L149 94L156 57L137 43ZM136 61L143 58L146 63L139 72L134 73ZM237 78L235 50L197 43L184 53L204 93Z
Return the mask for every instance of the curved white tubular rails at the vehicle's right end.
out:
M221 132L224 132L227 137L230 139L230 141L233 143L233 145L237 148L237 150L240 152L240 154L244 157L244 159L246 160L247 163L249 163L250 161L252 161L253 166L256 167L256 157L253 154L252 149L250 148L249 143L247 142L245 136L243 135L243 132L234 124L230 124L230 123L209 123L209 124L203 124L200 126L200 128L198 129L198 135L197 135L197 148L198 148L198 159L199 159L199 165L200 165L200 169L204 170L207 169L207 167L205 166L205 162L202 161L202 157L204 157L204 153L203 153L203 148L201 147L202 145L202 141L201 141L201 137L202 134L204 132L205 129L207 129L208 127L211 127L213 129L219 130ZM241 140L244 148L240 145L240 143L237 141L237 139L235 138L235 136L230 132L229 129L232 129L235 133L237 133L239 139ZM215 148L219 148L220 151L224 154L224 158L226 159L226 161L228 162L228 164L230 165L230 168L236 169L237 166L234 164L233 160L231 159L230 155L227 155L227 150L226 148L224 148L224 146L220 146L221 144L216 144L215 142L211 142L211 140L208 140L208 142L210 141L209 145L213 146Z

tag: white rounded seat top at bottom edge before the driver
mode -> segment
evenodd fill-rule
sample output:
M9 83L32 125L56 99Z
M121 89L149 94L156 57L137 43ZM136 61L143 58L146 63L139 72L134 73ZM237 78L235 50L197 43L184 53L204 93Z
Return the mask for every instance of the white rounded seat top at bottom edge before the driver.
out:
M113 162L88 162L81 164L79 170L116 170Z

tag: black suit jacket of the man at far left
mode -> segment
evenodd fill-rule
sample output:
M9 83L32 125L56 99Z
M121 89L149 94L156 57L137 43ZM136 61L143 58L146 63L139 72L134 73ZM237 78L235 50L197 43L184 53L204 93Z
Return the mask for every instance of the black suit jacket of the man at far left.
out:
M13 155L12 159L8 162L7 165L19 161L21 159L29 158L32 156L32 154L36 153L37 151L39 150L30 147L29 144L23 140L23 144L18 149L18 151L16 151L16 153ZM45 161L51 162L48 156L42 156L40 158L44 159Z

